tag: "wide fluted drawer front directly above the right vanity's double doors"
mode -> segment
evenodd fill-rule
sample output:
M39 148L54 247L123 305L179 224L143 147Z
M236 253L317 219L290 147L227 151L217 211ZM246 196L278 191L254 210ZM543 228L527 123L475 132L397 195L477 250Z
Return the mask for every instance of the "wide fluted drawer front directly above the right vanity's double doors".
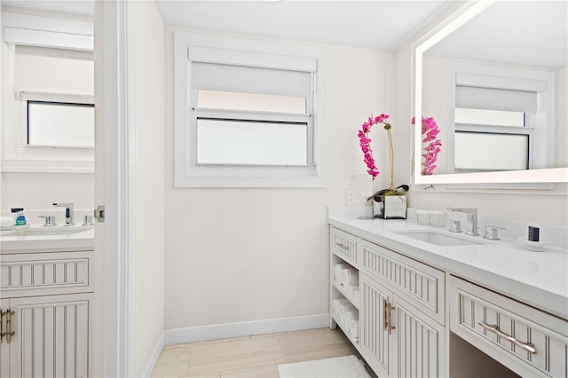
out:
M446 273L362 240L362 270L392 287L397 295L440 324L445 324Z

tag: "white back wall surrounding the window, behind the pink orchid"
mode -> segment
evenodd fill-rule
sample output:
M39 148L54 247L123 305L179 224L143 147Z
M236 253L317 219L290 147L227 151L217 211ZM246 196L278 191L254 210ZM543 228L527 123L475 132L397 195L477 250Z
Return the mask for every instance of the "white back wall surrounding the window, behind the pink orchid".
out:
M357 130L388 111L391 54L322 46L326 189L182 189L173 186L173 29L166 38L165 329L327 314L327 206L344 204L348 189L372 190Z

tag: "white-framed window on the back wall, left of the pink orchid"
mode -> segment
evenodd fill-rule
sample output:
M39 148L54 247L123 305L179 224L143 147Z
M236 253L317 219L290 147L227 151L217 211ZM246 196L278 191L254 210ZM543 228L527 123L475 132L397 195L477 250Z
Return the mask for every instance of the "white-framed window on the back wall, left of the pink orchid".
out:
M176 185L325 186L325 51L176 34Z

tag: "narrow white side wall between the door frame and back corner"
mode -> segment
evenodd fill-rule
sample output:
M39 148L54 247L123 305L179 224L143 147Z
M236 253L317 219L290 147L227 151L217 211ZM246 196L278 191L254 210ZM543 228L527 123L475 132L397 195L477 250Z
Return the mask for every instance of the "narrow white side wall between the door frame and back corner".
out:
M163 335L165 37L154 2L134 4L134 25L134 373L142 376Z

